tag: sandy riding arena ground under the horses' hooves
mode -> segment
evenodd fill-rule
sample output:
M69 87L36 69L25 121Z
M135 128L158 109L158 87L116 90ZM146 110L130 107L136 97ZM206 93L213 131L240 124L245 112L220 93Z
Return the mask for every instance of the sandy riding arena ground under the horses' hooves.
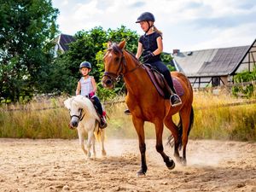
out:
M108 139L107 157L96 143L96 160L86 160L78 140L0 139L0 191L256 192L256 143L190 140L188 166L169 171L154 142L146 141L147 175L137 177L136 139Z

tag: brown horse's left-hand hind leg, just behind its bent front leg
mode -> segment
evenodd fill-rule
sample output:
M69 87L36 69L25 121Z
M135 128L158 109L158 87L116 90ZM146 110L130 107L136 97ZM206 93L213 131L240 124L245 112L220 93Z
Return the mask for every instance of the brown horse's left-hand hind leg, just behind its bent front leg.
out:
M172 136L174 138L174 157L176 158L176 160L178 162L181 161L181 157L178 153L178 147L180 145L179 140L178 140L178 131L177 131L177 125L175 125L172 121L172 117L170 117L169 119L165 119L164 123L166 125L166 127L172 132Z

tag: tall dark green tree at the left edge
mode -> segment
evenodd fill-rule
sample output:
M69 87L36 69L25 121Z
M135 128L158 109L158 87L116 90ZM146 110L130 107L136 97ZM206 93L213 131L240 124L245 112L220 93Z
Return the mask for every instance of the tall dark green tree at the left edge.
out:
M50 0L0 1L0 100L17 102L38 89L59 12Z

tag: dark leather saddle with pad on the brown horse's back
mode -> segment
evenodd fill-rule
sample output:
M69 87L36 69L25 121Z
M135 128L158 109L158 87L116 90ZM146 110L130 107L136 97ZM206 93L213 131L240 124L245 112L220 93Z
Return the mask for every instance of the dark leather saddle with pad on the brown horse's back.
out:
M169 99L172 95L172 90L169 87L169 85L166 82L166 79L162 73L157 71L157 69L147 63L143 64L144 69L148 73L148 77L151 80L151 82L154 84L155 89L158 91L160 96L162 96L165 99ZM180 84L180 82L172 78L174 89L177 90L178 96L183 96L183 87Z

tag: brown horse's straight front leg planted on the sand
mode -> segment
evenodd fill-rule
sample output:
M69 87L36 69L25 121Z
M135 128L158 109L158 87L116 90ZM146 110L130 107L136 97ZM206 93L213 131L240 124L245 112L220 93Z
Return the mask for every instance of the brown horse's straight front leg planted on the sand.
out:
M141 169L137 172L137 176L145 175L148 166L146 163L146 144L145 144L145 134L144 134L144 121L142 119L137 119L132 117L133 125L137 131L137 136L139 140L139 148L141 152Z

